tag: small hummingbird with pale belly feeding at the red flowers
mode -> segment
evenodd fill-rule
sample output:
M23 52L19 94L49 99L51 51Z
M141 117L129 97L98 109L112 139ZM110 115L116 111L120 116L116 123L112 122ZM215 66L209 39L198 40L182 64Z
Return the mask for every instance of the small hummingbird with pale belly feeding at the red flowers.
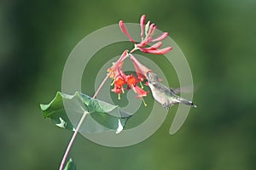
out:
M166 108L167 111L172 105L179 103L191 105L196 108L196 105L194 105L192 101L177 96L179 90L167 88L164 84L160 83L160 79L155 73L148 72L147 79L154 99L158 101L164 108Z

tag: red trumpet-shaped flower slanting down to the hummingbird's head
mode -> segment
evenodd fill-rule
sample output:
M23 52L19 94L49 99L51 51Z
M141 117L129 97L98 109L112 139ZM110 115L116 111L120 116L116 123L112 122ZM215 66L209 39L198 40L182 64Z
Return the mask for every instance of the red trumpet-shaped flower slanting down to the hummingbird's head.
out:
M147 77L147 72L151 70L141 64L132 54L130 54L130 59L135 67L138 79L143 82L143 79Z

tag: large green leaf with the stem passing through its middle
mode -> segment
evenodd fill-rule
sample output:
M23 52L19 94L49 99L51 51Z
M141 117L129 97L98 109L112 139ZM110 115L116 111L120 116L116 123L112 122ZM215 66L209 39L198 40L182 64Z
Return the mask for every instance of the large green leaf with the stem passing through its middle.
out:
M80 127L80 131L89 133L106 130L119 133L131 117L121 111L118 105L111 105L78 92L74 95L57 92L48 105L40 107L44 118L50 118L56 126L69 130L75 129L74 125L78 124L84 112L89 113Z

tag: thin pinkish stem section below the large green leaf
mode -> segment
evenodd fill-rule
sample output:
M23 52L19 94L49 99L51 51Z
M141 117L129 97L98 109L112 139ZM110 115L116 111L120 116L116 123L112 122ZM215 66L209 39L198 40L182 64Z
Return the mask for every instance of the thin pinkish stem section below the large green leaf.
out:
M63 156L63 158L62 158L62 161L61 161L60 170L63 170L63 168L64 168L65 162L66 162L66 160L67 160L67 155L68 155L68 153L69 153L69 151L70 151L70 149L71 149L71 147L72 147L72 145L73 145L73 141L74 141L74 139L76 138L77 134L79 133L79 128L81 127L81 125L82 125L82 123L84 122L84 119L85 119L85 117L86 117L87 115L88 115L88 112L87 112L87 111L84 111L84 114L83 114L82 118L81 118L80 121L79 121L79 125L78 125L78 127L75 129L75 131L74 131L74 133L73 133L73 136L72 136L72 138L70 139L69 144L67 145L67 150L66 150L66 152L65 152L65 154L64 154L64 156Z

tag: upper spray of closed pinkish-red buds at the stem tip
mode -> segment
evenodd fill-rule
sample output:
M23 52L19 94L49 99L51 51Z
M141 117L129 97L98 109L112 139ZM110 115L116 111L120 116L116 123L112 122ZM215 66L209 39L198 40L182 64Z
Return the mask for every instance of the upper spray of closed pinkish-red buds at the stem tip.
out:
M172 50L172 47L160 49L162 45L162 42L160 41L168 37L168 32L164 32L159 37L153 38L152 36L154 35L154 31L157 29L157 26L155 26L154 23L151 24L149 20L148 20L148 23L145 25L145 20L146 20L146 15L143 14L140 20L142 41L139 43L136 43L133 40L130 33L127 31L127 28L123 20L119 21L119 27L121 31L130 39L130 41L135 44L135 47L140 51L142 51L143 53L166 54L170 52ZM149 42L155 42L155 43L150 47L146 48Z

